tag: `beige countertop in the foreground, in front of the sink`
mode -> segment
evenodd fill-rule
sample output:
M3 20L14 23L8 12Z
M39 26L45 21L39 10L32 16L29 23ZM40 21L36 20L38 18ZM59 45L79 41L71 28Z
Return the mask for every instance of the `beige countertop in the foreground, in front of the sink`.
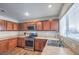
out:
M49 46L48 41L41 55L73 55L74 54L70 49L66 47Z

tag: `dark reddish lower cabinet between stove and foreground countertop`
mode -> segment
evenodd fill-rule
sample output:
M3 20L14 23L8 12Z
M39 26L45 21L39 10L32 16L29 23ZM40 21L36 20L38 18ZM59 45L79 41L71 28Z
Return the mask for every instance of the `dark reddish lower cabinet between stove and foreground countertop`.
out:
M42 51L46 44L46 39L35 39L35 51Z

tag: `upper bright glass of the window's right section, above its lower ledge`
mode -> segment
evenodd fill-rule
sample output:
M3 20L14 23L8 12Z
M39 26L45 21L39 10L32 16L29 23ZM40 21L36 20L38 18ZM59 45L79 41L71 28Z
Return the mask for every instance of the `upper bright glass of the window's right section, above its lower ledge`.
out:
M69 24L69 32L74 34L79 33L79 6L78 4L74 4L69 12L68 16L68 24Z

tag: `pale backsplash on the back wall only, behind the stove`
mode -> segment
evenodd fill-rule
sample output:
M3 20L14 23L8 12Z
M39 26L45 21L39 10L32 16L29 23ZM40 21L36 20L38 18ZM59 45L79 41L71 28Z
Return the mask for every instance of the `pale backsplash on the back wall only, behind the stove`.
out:
M24 32L26 33L36 32L37 35L41 37L55 37L58 34L58 32L55 31L20 31L19 35L24 35Z

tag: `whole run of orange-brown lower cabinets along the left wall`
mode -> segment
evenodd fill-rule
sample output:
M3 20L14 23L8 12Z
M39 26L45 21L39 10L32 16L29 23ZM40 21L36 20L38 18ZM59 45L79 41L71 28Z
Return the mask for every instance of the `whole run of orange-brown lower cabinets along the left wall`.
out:
M17 46L17 38L7 39L0 41L0 54L12 51Z

